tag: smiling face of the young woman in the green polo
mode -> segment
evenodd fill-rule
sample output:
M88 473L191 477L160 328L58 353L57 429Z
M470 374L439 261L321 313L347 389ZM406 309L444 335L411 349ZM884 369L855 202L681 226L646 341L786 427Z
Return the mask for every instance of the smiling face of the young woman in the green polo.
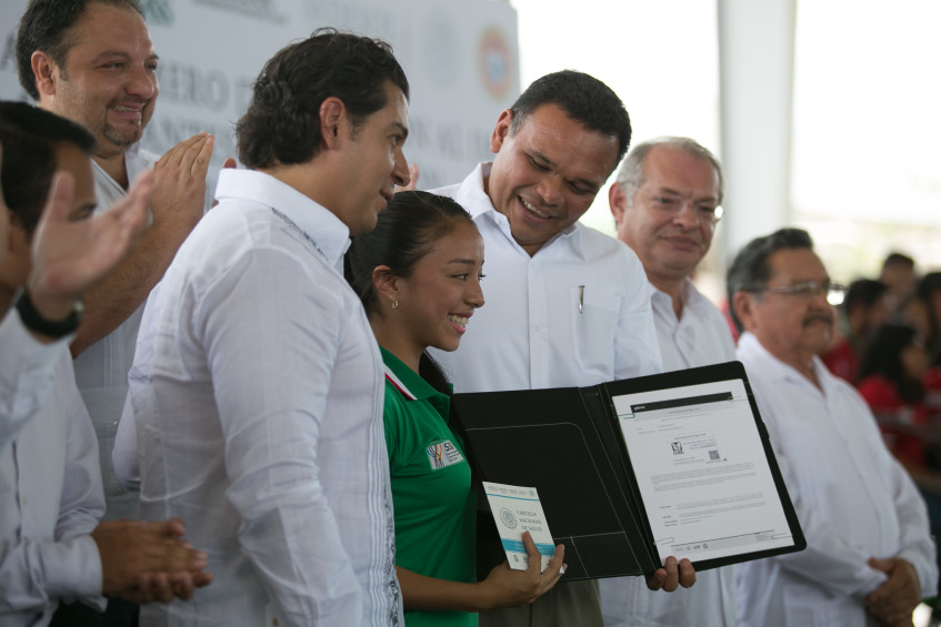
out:
M459 222L432 244L408 277L396 279L399 307L389 312L389 320L408 346L403 352L458 348L473 311L483 306L482 269L483 240L473 224Z

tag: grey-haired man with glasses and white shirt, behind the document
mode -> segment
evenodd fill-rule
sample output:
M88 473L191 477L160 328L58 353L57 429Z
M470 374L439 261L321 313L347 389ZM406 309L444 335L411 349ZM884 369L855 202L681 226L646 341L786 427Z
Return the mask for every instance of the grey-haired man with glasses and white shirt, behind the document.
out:
M640 257L664 371L735 358L725 318L691 281L721 215L722 166L687 138L635 145L608 200L618 239ZM634 577L599 582L605 627L735 624L732 567L697 574L695 586L667 596Z

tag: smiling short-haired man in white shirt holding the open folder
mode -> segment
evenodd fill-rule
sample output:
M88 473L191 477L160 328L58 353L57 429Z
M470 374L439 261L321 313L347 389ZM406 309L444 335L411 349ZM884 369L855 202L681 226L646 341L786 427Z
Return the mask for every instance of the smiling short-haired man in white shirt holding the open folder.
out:
M660 371L647 280L621 242L578 221L628 150L618 95L565 70L534 81L502 111L491 163L437 190L473 216L487 251L487 306L461 346L434 352L456 392L593 385ZM695 579L669 558L648 579L673 590ZM595 582L562 577L530 606L489 610L481 626L600 627Z

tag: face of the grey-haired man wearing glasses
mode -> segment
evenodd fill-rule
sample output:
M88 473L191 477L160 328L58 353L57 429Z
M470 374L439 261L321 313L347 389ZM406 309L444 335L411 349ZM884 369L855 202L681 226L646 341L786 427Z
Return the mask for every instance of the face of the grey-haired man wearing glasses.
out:
M638 254L654 285L681 282L709 251L719 204L719 175L700 156L658 145L643 160L643 182L632 199L619 183L609 195L618 239ZM679 213L663 206L682 203Z

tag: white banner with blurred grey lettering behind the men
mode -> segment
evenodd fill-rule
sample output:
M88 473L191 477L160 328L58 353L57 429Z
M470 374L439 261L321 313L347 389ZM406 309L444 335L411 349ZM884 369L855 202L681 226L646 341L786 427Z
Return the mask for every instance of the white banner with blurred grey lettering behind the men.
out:
M16 29L27 0L0 3L0 98L28 100L17 80ZM236 155L233 127L277 50L321 27L390 42L411 84L406 156L420 189L456 183L490 155L500 111L519 94L517 14L489 0L143 0L160 55L157 112L143 139L161 154L209 131L209 190Z

